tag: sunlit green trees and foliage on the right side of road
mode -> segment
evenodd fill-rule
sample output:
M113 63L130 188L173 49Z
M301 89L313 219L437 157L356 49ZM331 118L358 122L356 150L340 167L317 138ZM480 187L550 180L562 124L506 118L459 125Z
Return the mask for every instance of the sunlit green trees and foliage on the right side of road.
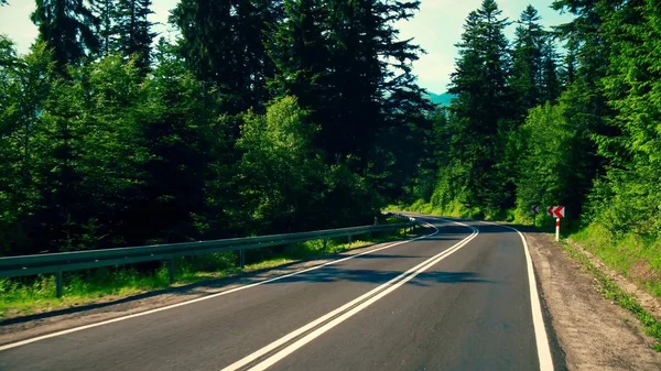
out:
M564 205L572 227L606 233L613 247L627 241L617 255L638 258L625 270L659 270L649 257L661 239L661 6L556 0L553 8L573 20L546 31L528 7L511 44L494 0L467 17L452 76L457 97L433 131L446 150L405 200L520 220L531 219L533 205Z

